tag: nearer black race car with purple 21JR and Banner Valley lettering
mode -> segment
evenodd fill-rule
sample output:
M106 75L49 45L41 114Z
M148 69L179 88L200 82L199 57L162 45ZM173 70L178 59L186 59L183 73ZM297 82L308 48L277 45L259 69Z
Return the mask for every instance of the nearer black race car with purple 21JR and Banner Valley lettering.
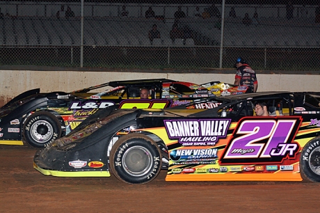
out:
M167 181L320 182L320 93L267 92L213 97L213 109L113 109L35 153L40 173ZM269 116L255 116L256 103ZM256 108L254 109L254 107ZM194 107L195 108L195 107Z

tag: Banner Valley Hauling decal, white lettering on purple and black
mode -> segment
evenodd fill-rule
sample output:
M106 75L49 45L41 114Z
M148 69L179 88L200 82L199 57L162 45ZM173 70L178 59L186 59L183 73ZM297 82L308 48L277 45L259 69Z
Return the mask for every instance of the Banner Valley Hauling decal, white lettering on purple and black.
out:
M164 120L169 139L182 145L216 145L227 136L230 119Z

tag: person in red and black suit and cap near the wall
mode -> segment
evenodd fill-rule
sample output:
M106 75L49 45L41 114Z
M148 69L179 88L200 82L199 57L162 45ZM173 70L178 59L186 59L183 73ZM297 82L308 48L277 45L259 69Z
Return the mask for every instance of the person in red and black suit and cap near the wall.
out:
M255 74L255 70L250 68L246 61L239 57L237 58L237 62L234 65L237 68L236 76L234 77L234 85L235 86L248 86L247 93L255 93L258 88L257 76Z

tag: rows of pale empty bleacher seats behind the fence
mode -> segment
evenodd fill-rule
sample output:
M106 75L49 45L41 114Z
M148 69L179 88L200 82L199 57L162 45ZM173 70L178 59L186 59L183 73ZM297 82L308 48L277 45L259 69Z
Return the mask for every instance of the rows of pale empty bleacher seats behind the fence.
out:
M170 20L169 20L170 21ZM179 27L189 26L193 39L170 40L173 22L144 17L87 17L84 19L83 44L97 46L150 46L147 36L152 24L157 24L160 40L153 46L190 47L220 45L221 30L214 27L217 18L180 20ZM171 20L172 21L172 20ZM225 19L224 42L227 47L319 47L320 31L314 20L284 17L261 17L260 24L244 26L241 17ZM77 17L4 17L0 19L2 46L79 46L81 22Z

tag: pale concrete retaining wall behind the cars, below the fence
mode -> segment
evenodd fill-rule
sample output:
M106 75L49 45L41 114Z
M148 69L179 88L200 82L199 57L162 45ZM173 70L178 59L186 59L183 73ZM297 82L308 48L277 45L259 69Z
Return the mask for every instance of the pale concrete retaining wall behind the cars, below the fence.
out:
M257 74L258 91L289 90L319 91L319 74ZM166 78L202 84L209 81L234 82L234 74L216 73L146 73L146 72L80 72L80 71L29 71L0 70L0 106L20 93L40 88L43 93L73 90L102 84L108 81Z

